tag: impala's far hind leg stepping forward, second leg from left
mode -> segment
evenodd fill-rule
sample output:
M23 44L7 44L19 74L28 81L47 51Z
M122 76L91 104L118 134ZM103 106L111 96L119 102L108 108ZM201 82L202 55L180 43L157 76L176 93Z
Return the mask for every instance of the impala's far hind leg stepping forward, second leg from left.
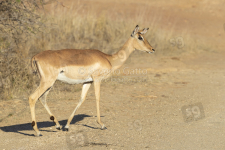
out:
M47 110L48 114L50 115L50 119L56 124L56 129L60 130L60 124L59 124L58 120L56 119L56 117L50 111L50 109L49 109L49 107L47 105L47 102L46 102L46 97L47 97L49 91L50 91L50 89L47 92L45 92L43 94L43 96L41 96L39 98L39 100L42 103L42 105L45 107L45 109Z

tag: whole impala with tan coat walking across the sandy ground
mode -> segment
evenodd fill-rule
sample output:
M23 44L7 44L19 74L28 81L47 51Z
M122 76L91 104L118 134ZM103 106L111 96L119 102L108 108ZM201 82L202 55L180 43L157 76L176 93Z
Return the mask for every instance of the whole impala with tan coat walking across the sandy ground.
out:
M96 96L97 122L101 125L101 129L106 129L105 125L101 122L99 110L101 80L108 78L114 70L121 67L134 50L147 53L153 53L155 51L144 38L144 34L147 30L148 28L144 28L139 31L139 26L137 25L127 42L118 52L112 55L94 49L63 49L47 50L33 56L31 66L40 77L40 85L35 92L30 95L29 104L32 126L37 136L41 135L35 119L35 103L38 99L47 110L50 119L56 124L56 129L60 130L58 120L51 113L46 103L46 96L56 80L69 84L83 84L81 99L70 115L64 127L65 130L69 130L70 122L77 109L84 102L88 89L93 82ZM90 68L91 71L87 71L90 70Z

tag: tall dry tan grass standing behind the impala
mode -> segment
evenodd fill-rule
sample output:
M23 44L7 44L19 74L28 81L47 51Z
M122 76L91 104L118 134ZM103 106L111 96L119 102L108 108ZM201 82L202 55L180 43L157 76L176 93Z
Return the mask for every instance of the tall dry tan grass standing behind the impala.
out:
M82 6L74 7L62 8L58 11L52 8L52 11L43 14L42 20L47 27L30 37L28 41L20 43L18 47L11 47L6 40L0 39L2 40L0 42L0 99L28 97L38 86L39 79L32 74L30 68L30 58L33 55L44 50L68 48L99 49L111 54L119 50L137 24L150 28L146 38L157 49L155 55L195 52L195 48L198 47L186 32L179 35L184 39L184 47L178 48L173 45L174 43L171 46L170 40L176 37L175 29L161 30L155 24L160 17L155 14L155 17L149 20L145 10L137 12L130 18L124 18L107 12L100 15L93 10L82 12ZM9 49L12 50L8 51ZM57 82L54 89L59 92L76 92L80 90L80 86ZM57 93L55 93L56 97Z

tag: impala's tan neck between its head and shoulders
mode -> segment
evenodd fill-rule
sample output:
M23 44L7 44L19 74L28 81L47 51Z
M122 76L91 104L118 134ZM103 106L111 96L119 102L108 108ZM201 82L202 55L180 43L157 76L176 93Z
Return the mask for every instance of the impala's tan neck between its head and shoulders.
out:
M111 55L112 57L109 61L112 65L112 70L120 68L134 51L135 48L132 46L133 40L134 38L130 37L118 52Z

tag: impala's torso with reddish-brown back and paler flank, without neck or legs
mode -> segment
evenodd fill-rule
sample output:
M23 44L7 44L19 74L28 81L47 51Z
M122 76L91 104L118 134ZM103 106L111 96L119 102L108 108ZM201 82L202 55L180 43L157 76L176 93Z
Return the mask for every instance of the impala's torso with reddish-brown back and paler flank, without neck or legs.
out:
M47 50L32 58L42 78L57 79L69 84L91 82L92 73L110 69L110 57L99 50Z

